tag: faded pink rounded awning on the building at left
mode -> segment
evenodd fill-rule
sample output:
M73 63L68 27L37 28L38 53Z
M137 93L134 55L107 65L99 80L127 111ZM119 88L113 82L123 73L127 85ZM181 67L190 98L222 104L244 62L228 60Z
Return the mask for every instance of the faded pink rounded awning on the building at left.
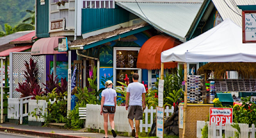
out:
M54 48L58 47L59 38L65 38L64 36L41 38L36 41L31 49L31 55L53 55L67 52L58 52Z

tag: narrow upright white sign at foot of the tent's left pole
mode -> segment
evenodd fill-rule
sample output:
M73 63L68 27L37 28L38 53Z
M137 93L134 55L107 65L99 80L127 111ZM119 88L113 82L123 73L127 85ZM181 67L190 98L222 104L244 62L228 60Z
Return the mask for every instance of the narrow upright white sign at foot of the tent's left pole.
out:
M156 107L156 136L164 137L164 108Z

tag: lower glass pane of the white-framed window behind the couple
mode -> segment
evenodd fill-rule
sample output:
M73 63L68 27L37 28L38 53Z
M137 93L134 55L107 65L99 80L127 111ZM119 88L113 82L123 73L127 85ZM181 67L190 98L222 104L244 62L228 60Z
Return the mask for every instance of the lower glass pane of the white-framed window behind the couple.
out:
M129 78L129 83L132 83L132 74L134 72L138 73L138 70L116 69L116 86L121 86L117 81L121 81L122 83L125 82L125 74L127 74L127 77Z

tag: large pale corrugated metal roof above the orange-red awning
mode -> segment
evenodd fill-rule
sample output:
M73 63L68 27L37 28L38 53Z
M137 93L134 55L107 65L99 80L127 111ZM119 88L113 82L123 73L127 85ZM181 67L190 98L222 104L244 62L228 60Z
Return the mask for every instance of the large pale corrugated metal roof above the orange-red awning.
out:
M148 24L152 24L156 29L181 41L184 40L202 5L202 3L138 3L140 10L137 3L117 2L116 4Z

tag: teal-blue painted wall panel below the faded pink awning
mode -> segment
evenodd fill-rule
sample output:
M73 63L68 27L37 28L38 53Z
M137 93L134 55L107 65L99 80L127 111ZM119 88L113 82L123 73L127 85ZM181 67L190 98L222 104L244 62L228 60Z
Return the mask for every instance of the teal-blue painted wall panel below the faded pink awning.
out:
M72 67L71 67L72 68ZM50 61L50 73L53 72L53 61ZM56 75L58 75L58 79L66 78L68 81L68 62L65 61L57 61L56 62Z

